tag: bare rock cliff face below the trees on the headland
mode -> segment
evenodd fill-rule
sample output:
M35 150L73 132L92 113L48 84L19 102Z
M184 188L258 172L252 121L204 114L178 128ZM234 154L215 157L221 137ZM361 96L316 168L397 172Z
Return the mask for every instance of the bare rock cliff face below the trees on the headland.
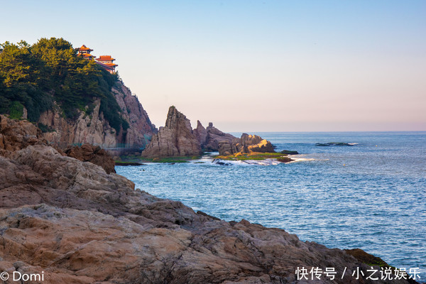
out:
M116 82L111 92L121 108L121 117L129 124L126 131L121 129L117 132L107 119L104 119L100 111L101 101L97 99L90 115L80 111L77 118L72 121L63 117L62 109L58 105L53 110L45 111L38 120L38 123L48 128L43 137L50 143L65 146L72 143L90 143L106 148L117 147L120 144L145 147L156 132L148 114L138 98L132 95L130 89L122 82Z

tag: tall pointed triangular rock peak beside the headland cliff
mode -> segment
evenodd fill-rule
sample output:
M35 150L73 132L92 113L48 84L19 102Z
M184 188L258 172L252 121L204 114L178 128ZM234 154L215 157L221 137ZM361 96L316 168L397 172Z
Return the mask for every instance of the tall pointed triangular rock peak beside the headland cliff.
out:
M192 132L190 120L175 107L170 107L165 126L160 127L142 152L146 158L200 155L201 147Z

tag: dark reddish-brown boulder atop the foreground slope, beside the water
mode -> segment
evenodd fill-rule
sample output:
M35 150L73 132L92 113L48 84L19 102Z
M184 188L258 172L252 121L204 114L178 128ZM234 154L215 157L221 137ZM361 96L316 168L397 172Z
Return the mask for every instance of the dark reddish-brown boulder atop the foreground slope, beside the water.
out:
M67 148L65 153L68 157L76 158L83 162L94 163L104 168L107 173L115 173L115 163L111 158L111 155L107 151L101 149L99 146L93 146L90 144L83 144L81 147L75 146Z

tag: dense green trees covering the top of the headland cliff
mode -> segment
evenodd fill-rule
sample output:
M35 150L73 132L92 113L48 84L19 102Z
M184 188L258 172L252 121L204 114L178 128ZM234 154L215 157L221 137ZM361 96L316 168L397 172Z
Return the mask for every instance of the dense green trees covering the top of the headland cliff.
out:
M20 118L26 107L28 119L38 121L56 102L65 118L75 119L78 110L91 114L94 100L101 99L100 109L109 124L116 131L129 127L111 94L118 74L78 56L67 40L41 38L33 45L6 42L0 52L1 114Z

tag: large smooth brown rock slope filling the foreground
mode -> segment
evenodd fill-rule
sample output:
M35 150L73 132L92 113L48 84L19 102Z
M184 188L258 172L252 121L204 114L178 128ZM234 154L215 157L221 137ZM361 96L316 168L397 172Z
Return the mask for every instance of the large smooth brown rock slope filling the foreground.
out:
M371 269L351 255L360 253L195 213L50 146L8 153L0 156L0 271L44 271L32 283L388 283L351 276ZM297 281L297 267L337 275Z

